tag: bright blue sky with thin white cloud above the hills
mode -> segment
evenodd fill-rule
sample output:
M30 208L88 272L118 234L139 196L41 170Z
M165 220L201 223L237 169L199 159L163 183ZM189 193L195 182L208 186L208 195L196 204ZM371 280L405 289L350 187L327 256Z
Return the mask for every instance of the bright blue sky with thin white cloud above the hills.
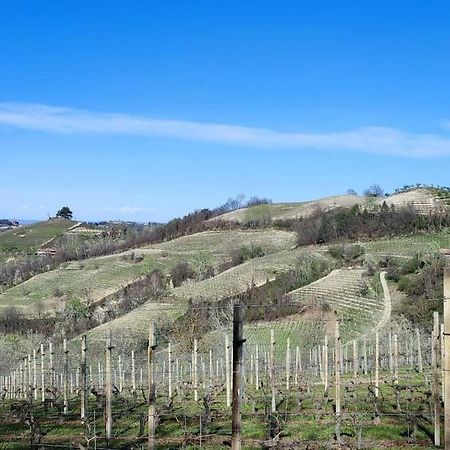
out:
M450 4L0 0L0 217L449 184Z

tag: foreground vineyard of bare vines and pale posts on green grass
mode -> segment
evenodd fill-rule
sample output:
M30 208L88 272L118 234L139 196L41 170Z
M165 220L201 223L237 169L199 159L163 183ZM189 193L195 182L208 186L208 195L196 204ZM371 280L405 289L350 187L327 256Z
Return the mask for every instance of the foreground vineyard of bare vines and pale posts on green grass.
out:
M442 390L441 370L433 375L427 335L411 334L395 324L377 337L341 345L333 334L325 340L313 324L307 329L318 339L310 345L301 342L299 347L298 328L282 332L275 328L273 339L266 342L261 335L255 343L255 335L244 327L243 448L432 448L433 431L439 423L432 399L440 402ZM139 448L146 445L150 430L157 448L229 448L232 339L230 329L225 332L228 346L222 335L220 348L202 346L186 353L174 347L169 352L157 336L151 366L151 383L156 388L154 427L146 420L149 377L145 347L123 341L114 331L111 370L107 372L105 355L94 355L88 345L88 394L84 419L80 420L84 389L80 343L71 345L69 353L61 346L53 347L53 359L48 358L49 347L44 346L45 358L40 354L30 358L31 375L21 363L14 375L0 378L0 435L8 442L0 448L37 444L86 447L88 442L89 448ZM433 360L438 361L439 348L433 352ZM433 376L436 382L430 383ZM107 392L112 394L109 439ZM442 426L437 435L441 434Z

